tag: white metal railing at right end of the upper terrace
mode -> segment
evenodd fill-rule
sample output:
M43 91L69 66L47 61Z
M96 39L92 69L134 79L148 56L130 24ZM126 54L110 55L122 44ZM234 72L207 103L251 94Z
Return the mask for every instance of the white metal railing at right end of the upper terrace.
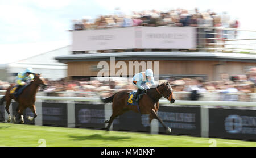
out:
M200 51L256 53L256 31L224 27L197 27Z

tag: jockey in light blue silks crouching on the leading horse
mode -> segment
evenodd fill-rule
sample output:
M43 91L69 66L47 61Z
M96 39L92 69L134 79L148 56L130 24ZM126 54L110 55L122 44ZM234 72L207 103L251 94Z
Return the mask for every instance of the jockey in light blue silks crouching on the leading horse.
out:
M135 85L138 88L138 90L134 94L133 101L138 102L139 97L137 96L142 92L147 92L147 89L150 88L150 86L148 86L148 82L151 83L151 86L156 86L155 79L153 77L153 70L147 69L145 72L140 72L134 75L133 85Z

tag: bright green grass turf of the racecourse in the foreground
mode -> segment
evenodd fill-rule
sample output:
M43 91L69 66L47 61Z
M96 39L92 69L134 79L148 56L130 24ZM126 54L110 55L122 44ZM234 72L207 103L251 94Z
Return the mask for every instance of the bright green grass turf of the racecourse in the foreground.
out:
M152 135L0 123L0 146L37 147L209 147L210 138ZM256 147L256 142L215 139L217 147Z

